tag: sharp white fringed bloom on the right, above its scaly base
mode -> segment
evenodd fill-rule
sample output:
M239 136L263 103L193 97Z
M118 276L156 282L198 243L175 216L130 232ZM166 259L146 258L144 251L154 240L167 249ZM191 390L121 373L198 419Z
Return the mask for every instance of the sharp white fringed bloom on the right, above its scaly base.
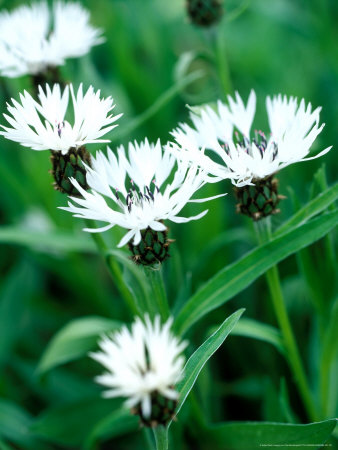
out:
M180 158L208 172L211 182L230 178L236 186L252 184L283 167L318 158L331 149L305 158L324 124L319 125L321 108L312 111L310 103L305 108L304 100L298 105L293 97L267 97L271 131L268 138L262 131L255 131L253 136L251 133L256 109L254 91L247 106L238 93L235 100L229 96L228 101L229 106L218 101L217 112L207 106L200 115L191 113L194 128L180 124L171 133L176 144L168 144Z

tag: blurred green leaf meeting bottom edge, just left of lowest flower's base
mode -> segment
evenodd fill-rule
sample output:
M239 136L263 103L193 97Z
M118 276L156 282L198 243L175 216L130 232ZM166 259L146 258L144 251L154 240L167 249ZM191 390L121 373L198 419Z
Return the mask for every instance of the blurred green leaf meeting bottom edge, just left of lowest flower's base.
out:
M84 443L84 449L94 449L101 440L112 439L139 428L138 417L131 415L128 409L117 409L95 425Z

